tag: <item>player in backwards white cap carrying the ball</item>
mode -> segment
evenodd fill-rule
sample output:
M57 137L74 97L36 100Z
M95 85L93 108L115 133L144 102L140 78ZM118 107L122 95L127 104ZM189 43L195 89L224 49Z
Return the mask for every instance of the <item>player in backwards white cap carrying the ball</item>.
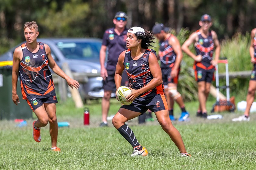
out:
M163 130L170 136L180 150L181 156L190 156L184 146L180 132L172 125L169 118L167 101L163 90L163 80L156 53L148 49L153 42L153 34L140 27L128 29L126 46L118 58L115 73L115 83L118 89L121 86L122 74L125 69L131 85L131 94L127 101L130 105L120 107L112 119L114 127L132 145L131 156L146 156L148 151L137 141L133 131L125 123L148 109L155 113Z

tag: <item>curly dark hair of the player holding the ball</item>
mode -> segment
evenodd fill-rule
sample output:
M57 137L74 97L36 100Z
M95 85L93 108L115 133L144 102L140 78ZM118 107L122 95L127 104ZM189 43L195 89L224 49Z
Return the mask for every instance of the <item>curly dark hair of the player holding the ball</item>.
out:
M148 49L149 46L154 47L151 43L155 43L155 41L152 41L155 37L148 29L145 29L145 32L136 32L135 35L137 36L137 39L141 39L142 48Z

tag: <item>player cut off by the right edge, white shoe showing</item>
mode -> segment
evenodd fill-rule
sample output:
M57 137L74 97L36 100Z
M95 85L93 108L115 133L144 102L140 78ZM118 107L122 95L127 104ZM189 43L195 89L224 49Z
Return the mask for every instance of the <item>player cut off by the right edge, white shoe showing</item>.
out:
M250 109L255 98L256 91L256 28L251 30L251 45L250 45L251 63L253 63L253 70L251 72L251 79L249 81L248 92L246 96L246 108L244 115L232 119L232 121L250 121Z

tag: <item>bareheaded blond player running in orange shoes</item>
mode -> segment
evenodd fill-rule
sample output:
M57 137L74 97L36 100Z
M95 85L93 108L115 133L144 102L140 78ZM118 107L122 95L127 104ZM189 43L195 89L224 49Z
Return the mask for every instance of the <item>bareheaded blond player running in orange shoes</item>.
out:
M39 35L38 26L35 21L26 22L24 36L26 42L17 47L13 53L12 63L12 100L14 104L20 103L17 95L17 81L20 75L20 86L23 99L37 116L33 122L33 137L36 142L41 141L41 127L50 124L50 136L52 139L51 150L60 151L57 147L58 122L56 117L57 98L52 81L51 69L64 78L68 85L76 89L79 83L68 77L55 63L52 58L51 49L47 44L37 42Z

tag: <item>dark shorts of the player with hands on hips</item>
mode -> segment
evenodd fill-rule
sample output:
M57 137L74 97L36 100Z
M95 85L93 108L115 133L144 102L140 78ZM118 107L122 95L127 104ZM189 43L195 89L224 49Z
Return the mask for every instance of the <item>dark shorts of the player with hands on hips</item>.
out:
M197 67L195 70L195 78L197 82L205 81L207 83L212 83L212 80L215 80L214 71L214 69L205 70L200 67Z

